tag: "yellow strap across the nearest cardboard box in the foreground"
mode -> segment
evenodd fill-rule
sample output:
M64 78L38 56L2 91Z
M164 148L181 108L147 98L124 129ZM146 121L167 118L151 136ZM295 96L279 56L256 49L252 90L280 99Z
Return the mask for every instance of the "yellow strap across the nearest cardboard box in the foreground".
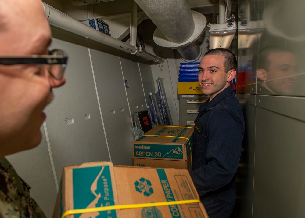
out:
M199 203L199 202L200 200L193 199L193 200L184 200L184 201L156 202L156 203L145 203L145 204L126 204L126 205L114 205L114 206L94 207L94 208L86 208L86 209L75 209L75 210L67 210L65 213L63 213L61 218L64 218L72 214L91 213L91 212L99 212L105 210L157 207L157 206L176 205L176 204L191 204L191 203Z

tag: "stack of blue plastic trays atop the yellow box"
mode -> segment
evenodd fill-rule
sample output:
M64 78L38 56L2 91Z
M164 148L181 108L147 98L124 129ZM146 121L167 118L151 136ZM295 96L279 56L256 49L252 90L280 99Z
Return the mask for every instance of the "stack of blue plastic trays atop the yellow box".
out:
M193 63L180 63L179 71L179 82L194 82L198 81L199 67L200 62Z

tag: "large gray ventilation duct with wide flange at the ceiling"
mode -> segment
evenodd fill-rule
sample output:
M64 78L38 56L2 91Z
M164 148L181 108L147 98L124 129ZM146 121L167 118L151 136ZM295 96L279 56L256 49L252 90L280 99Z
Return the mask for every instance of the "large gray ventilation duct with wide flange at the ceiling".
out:
M182 59L194 62L201 56L197 39L206 27L206 17L191 11L187 0L134 0L156 24L157 45L177 49Z

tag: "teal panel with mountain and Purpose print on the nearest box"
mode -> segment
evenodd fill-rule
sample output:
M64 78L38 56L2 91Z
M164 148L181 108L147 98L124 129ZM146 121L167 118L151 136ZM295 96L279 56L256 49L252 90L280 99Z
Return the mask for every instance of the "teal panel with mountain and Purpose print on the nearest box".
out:
M113 206L113 187L109 166L75 168L73 174L74 209ZM74 215L79 218L81 214ZM116 218L115 210L95 212L96 218Z

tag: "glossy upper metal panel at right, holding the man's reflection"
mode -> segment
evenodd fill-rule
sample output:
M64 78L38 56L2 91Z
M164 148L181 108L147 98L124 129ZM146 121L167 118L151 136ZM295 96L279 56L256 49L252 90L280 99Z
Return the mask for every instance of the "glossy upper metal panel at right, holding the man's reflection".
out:
M305 2L239 3L239 93L305 96Z

